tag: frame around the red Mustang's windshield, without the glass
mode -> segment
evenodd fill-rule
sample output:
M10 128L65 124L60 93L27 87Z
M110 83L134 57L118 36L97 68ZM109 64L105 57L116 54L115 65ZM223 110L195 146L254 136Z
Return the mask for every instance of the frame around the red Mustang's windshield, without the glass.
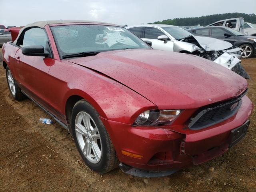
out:
M139 42L142 42L144 45L146 45L145 48L128 48L128 49L152 49L151 46L149 46L146 42L144 42L141 38L139 38L138 36L134 35L132 32L130 32L128 29L122 27L122 26L118 26L118 25L111 25L111 24L105 24L105 23L68 23L68 24L51 24L49 25L50 27L50 31L52 33L52 36L53 36L53 40L54 40L54 43L55 43L55 46L56 46L56 49L58 51L58 55L60 57L60 59L64 60L62 57L64 56L63 51L60 50L60 46L58 45L58 41L57 41L57 38L55 36L55 33L53 32L53 28L54 27L61 27L61 26L82 26L82 25L90 25L90 26L106 26L106 27L118 27L118 28L122 28L122 29L125 29L128 33L130 33L132 36L134 36L134 38L136 38ZM126 50L127 48L123 48L123 49L111 49L111 50L92 50L92 52L108 52L108 51L116 51L116 50ZM80 54L80 52L77 52L77 53L70 53L70 55L73 55L73 54ZM74 56L73 58L75 57L83 57L83 56ZM70 59L70 58L68 58ZM66 60L66 59L65 59Z

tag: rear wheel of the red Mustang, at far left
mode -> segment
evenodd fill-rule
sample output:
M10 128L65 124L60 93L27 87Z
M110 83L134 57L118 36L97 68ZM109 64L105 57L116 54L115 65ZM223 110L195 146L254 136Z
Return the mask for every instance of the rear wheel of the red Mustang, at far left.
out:
M8 66L6 67L6 79L10 93L15 100L19 101L26 98L26 96L21 92L21 89L17 86Z

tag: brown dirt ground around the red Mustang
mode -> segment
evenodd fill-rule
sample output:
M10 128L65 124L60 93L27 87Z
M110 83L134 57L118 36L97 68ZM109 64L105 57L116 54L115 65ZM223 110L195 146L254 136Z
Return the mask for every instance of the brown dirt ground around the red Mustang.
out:
M0 58L0 191L98 192L256 192L256 121L254 110L246 137L228 153L200 166L162 178L138 178L116 169L90 170L70 134L32 101L10 96ZM256 57L242 60L256 103Z

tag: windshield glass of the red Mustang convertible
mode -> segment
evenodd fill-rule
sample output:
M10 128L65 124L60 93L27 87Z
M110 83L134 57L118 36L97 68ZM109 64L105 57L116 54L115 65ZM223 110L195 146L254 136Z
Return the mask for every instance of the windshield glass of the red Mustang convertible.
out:
M123 27L83 24L53 26L51 30L61 56L81 52L150 48Z

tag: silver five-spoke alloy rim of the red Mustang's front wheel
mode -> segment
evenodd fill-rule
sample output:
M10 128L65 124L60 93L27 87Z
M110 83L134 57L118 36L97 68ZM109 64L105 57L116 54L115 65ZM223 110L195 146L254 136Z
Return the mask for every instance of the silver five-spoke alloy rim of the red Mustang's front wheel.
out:
M98 128L92 117L86 112L79 112L75 120L76 138L86 158L96 164L102 156L102 142Z

